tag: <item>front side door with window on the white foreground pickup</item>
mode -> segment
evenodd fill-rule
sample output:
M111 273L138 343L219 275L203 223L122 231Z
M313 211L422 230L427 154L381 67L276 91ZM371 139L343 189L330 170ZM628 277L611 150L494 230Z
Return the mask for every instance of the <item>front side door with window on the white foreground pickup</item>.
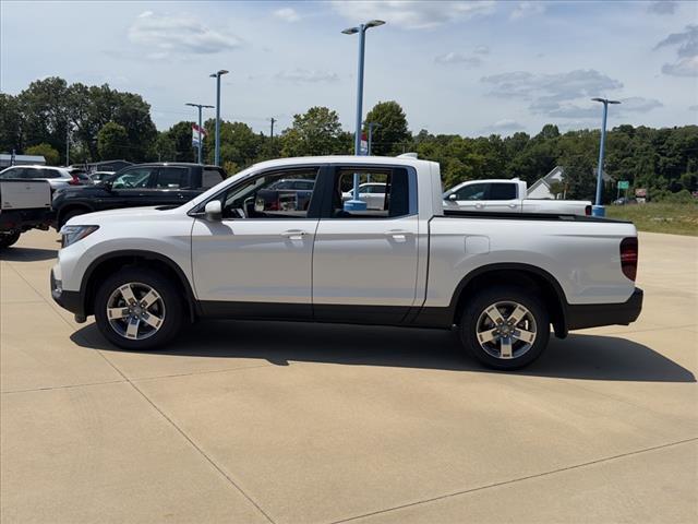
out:
M222 221L192 227L196 296L208 314L312 317L312 253L317 227L310 200L264 198L280 179L314 180L320 166L273 169L233 183L220 200ZM318 203L317 203L318 205Z

